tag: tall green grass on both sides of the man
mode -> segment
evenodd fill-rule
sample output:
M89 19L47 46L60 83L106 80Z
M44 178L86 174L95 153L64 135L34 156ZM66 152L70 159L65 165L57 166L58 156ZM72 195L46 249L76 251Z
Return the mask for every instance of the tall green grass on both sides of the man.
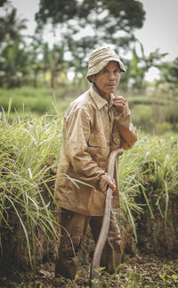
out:
M9 102L7 111L0 113L0 250L4 250L9 235L13 245L23 239L18 244L21 247L26 243L28 258L35 267L36 242L43 246L37 231L49 243L57 239L53 182L61 148L62 117L60 113L46 113L21 119L17 113L12 119L11 106ZM120 159L121 219L131 223L136 242L135 215L142 214L146 207L151 218L155 218L157 207L167 220L170 194L177 195L178 191L177 147L177 135L171 136L170 132L163 137L139 131L137 143ZM150 201L153 193L155 202ZM137 202L141 194L144 202Z

